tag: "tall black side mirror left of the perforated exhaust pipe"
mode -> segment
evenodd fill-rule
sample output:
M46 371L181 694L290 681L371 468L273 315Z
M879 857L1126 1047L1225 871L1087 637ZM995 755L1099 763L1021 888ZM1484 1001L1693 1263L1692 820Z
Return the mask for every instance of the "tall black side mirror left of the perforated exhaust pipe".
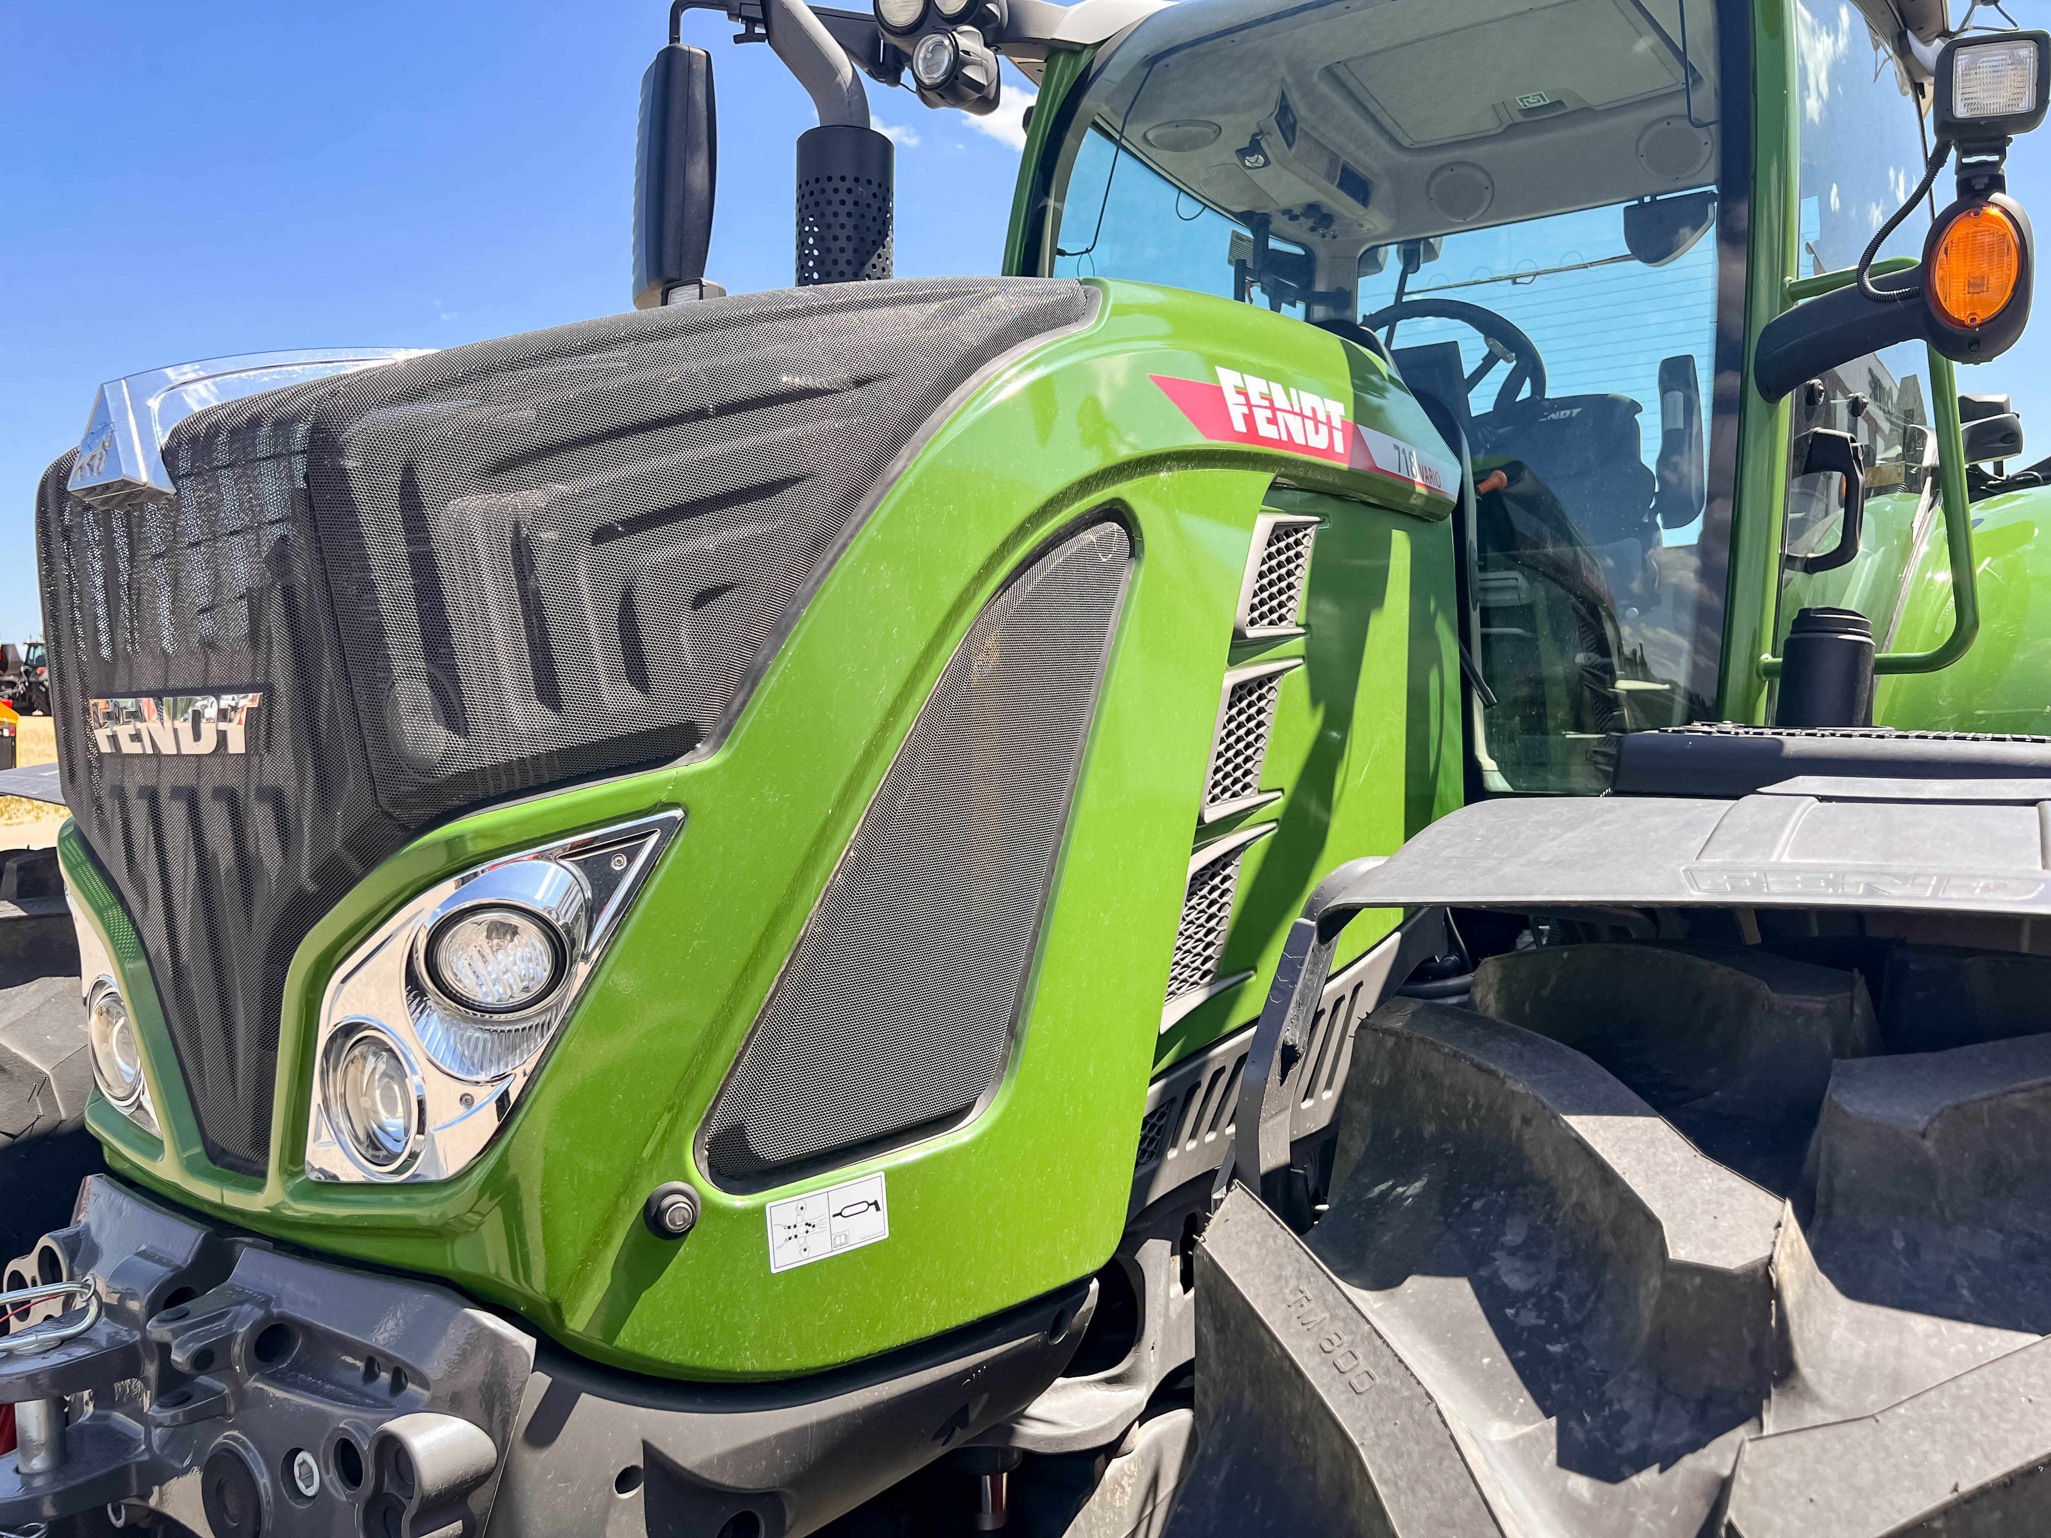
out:
M718 183L712 55L671 43L642 76L634 156L634 308L660 310L671 289L724 293L706 283Z

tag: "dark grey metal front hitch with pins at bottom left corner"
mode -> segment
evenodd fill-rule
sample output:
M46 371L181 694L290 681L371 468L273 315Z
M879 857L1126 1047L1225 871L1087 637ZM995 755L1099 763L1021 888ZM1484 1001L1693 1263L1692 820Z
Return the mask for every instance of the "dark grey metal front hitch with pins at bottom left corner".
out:
M533 1339L455 1294L279 1255L94 1175L0 1294L0 1532L482 1534Z

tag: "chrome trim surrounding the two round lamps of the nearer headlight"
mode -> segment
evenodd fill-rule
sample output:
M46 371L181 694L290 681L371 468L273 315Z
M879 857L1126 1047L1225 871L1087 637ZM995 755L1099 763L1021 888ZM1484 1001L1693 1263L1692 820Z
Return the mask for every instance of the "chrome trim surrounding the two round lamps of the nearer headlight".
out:
M386 919L334 970L322 995L306 1173L343 1183L441 1181L484 1152L539 1072L621 915L681 826L683 812L658 812L507 855L427 888ZM429 943L449 919L492 906L533 913L564 943L554 986L509 1013L466 1009L429 964ZM390 1169L359 1161L328 1120L330 1054L347 1050L336 1042L363 1029L392 1038L418 1075L425 1107L418 1150Z

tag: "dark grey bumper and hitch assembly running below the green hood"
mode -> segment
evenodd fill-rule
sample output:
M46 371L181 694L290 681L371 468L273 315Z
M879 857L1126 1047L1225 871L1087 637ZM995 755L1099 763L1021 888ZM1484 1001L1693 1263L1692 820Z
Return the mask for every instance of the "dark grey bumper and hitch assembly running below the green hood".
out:
M742 1511L771 1538L804 1534L1032 1403L1095 1302L1079 1282L874 1364L691 1386L105 1175L31 1259L92 1278L103 1314L0 1355L0 1403L66 1399L70 1417L49 1472L0 1456L0 1528L129 1503L215 1538L716 1532Z

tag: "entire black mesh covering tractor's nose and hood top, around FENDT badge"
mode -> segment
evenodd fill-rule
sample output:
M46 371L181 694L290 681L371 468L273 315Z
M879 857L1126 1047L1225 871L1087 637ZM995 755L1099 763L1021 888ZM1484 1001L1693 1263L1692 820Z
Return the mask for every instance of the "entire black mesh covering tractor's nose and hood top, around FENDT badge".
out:
M285 968L439 818L718 740L927 422L1087 320L946 279L611 316L217 406L168 507L39 498L59 759L209 1157L260 1173ZM258 691L240 757L103 757L84 701Z

